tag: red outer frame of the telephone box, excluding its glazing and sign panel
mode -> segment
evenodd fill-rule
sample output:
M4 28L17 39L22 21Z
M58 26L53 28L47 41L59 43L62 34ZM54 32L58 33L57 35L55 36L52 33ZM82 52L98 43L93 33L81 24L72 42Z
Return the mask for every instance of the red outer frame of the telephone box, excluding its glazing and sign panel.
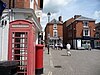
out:
M29 27L12 27L12 25L24 25L27 24ZM35 25L26 20L15 20L10 22L9 27L9 45L8 45L8 60L12 60L12 33L13 32L27 32L27 74L35 75ZM21 66L19 66L21 67Z

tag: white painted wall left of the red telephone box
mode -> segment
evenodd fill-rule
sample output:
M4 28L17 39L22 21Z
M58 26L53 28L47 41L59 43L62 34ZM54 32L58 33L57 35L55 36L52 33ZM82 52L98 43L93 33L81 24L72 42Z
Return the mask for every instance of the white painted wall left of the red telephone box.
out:
M0 27L0 60L8 59L8 28L9 28L9 18L6 16L2 20L6 20L6 26ZM1 22L2 22L1 20Z

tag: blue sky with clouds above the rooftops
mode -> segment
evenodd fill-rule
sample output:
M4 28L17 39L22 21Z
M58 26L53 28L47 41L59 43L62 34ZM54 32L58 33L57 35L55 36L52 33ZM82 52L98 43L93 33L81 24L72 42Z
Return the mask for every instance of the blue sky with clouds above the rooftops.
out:
M63 22L74 17L74 15L82 15L84 17L93 18L96 23L100 22L100 0L43 0L43 14L41 25L43 30L47 24L47 13L51 13L50 20L58 20L62 16Z

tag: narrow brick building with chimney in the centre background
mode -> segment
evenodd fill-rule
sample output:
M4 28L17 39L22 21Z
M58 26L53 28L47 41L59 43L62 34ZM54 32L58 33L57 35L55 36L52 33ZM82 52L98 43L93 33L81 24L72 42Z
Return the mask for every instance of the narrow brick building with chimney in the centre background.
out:
M61 18L60 16L59 21L53 19L45 27L45 43L49 43L50 46L63 42L63 22Z

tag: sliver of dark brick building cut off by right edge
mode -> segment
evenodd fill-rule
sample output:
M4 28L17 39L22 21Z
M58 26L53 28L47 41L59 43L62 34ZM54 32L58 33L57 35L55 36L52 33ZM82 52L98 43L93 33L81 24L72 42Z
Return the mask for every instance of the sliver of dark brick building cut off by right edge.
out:
M97 40L95 41L95 48L100 48L100 22L96 24L95 37L97 38Z

